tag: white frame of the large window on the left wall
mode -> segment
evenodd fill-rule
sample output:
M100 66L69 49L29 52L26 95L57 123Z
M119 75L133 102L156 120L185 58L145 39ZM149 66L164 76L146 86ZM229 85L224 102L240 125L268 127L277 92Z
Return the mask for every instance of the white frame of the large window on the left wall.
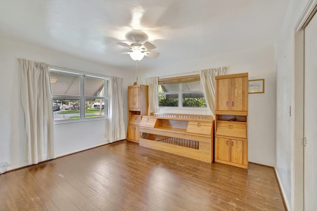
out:
M109 82L109 78L106 76L95 76L94 74L90 73L83 73L79 71L72 71L69 69L64 68L57 68L57 67L51 67L50 72L56 72L61 74L69 74L69 75L77 75L80 76L80 95L74 96L74 95L53 95L52 93L52 101L53 99L79 99L80 100L80 118L78 119L65 119L65 120L54 120L54 124L59 123L70 123L70 122L80 122L80 121L92 121L92 120L99 120L99 119L108 119L108 96L107 96L107 85ZM105 96L104 97L98 97L98 96L85 96L85 77L87 78L96 78L96 79L103 79L104 80L104 89L105 89ZM95 99L102 99L105 102L104 106L104 114L105 116L100 117L88 117L85 116L85 108L86 108L86 99L87 100L95 100ZM84 106L82 106L84 105ZM53 112L53 111L52 111Z

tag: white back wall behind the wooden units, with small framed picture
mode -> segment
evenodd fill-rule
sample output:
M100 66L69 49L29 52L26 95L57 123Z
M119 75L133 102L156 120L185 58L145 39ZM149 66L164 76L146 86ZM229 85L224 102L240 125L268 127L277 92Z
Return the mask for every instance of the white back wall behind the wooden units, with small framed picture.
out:
M141 79L152 76L183 74L213 67L228 67L228 74L249 72L249 79L265 79L264 94L249 94L249 161L275 165L275 61L274 46L264 46L240 52L206 57L183 63L168 64L164 68L144 70ZM145 81L140 81L144 83ZM185 112L186 110L161 110ZM205 114L194 110L192 113Z

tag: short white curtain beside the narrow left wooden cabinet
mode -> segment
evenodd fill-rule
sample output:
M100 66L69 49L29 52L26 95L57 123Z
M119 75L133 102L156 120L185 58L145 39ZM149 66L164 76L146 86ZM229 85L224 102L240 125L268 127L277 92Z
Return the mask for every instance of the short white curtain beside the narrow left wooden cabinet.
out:
M151 112L159 112L159 89L158 81L159 77L151 77L145 79L147 85L149 85L149 108L148 115L151 115Z

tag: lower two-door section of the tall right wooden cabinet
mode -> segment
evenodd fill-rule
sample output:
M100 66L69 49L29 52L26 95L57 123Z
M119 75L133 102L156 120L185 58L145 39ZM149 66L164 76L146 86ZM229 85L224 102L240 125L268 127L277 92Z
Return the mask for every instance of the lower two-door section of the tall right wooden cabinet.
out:
M215 137L214 160L242 168L248 167L248 142Z

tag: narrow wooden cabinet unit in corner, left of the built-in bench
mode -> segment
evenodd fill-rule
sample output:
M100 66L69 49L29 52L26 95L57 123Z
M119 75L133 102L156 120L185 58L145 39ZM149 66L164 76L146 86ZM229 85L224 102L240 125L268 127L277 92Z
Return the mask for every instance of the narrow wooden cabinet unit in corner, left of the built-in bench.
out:
M147 85L128 86L128 141L139 143L139 124L141 122L142 116L148 114L148 90L149 86Z

